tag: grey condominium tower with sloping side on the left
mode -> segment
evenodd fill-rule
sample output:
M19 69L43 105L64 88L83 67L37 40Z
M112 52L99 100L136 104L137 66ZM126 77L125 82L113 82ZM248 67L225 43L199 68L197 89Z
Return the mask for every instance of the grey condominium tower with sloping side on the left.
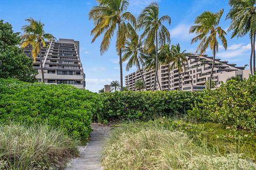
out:
M31 49L31 45L24 49L29 57L31 57ZM59 41L46 42L46 47L42 48L42 63L45 83L70 84L77 88L85 88L85 75L79 58L78 41L60 38ZM39 54L33 67L38 70L36 79L42 82Z

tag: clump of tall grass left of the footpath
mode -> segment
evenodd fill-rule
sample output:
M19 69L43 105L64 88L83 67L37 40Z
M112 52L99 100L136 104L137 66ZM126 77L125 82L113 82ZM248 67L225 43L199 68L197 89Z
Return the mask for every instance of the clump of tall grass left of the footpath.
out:
M77 155L77 141L47 125L0 126L0 169L62 168Z

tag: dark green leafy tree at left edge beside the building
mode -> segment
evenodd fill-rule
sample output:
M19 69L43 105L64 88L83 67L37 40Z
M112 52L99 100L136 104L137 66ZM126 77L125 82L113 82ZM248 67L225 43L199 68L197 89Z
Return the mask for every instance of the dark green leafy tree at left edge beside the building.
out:
M0 20L0 78L17 78L35 82L37 71L33 62L18 47L20 37L13 33L12 26Z

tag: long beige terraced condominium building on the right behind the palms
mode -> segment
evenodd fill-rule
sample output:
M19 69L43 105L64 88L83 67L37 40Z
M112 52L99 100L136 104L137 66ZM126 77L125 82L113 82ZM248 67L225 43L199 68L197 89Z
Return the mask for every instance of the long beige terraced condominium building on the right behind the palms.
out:
M207 55L189 55L187 56L188 63L186 68L180 72L178 69L170 69L170 75L168 72L168 66L161 66L157 71L158 79L156 82L156 90L180 90L183 91L203 91L206 88L206 81L210 80L211 68L212 68L212 57ZM228 78L233 76L239 76L241 78L249 77L249 70L244 70L244 67L237 67L236 64L229 64L228 61L221 61L220 59L215 60L213 68L212 81L218 88L220 85L225 83ZM148 90L153 90L155 71L142 69L142 75L145 79L145 83ZM140 71L133 72L125 76L125 84L129 90L137 91L135 89L135 82L141 79ZM170 79L170 87L169 81Z

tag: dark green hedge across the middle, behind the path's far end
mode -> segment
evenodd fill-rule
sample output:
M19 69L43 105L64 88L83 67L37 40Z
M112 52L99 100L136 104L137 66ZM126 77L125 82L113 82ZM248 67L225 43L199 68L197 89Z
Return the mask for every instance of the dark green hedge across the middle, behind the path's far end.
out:
M201 93L179 91L101 93L103 108L94 121L149 120L187 114Z

